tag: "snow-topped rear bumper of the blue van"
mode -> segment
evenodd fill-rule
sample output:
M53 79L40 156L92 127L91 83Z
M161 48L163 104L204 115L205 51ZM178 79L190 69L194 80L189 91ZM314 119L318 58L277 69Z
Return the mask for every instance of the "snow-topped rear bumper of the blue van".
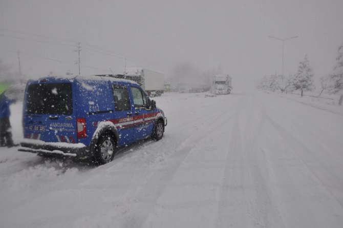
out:
M92 156L89 147L82 143L44 142L34 139L20 142L18 151L55 157L88 158Z

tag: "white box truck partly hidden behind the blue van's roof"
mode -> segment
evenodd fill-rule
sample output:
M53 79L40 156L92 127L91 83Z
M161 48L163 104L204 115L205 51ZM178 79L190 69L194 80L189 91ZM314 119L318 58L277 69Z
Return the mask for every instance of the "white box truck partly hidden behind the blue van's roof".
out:
M148 96L161 96L164 93L164 74L142 67L126 68L123 78L136 81Z

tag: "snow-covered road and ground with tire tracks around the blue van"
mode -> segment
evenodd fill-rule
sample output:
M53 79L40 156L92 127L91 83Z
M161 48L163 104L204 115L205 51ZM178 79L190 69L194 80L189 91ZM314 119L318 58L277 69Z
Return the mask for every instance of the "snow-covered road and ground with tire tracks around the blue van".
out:
M1 148L0 227L343 227L342 115L264 92L155 100L164 138L100 167Z

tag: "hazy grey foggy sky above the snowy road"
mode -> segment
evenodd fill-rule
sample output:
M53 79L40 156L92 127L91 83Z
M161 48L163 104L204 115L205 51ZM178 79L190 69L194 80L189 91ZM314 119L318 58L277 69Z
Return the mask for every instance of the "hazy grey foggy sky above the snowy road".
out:
M166 76L186 61L258 79L282 71L282 42L269 36L298 36L284 43L284 74L308 54L318 78L343 44L342 9L341 0L0 0L0 59L17 72L19 50L28 77L78 74L80 42L81 74L122 72L126 56L126 66Z

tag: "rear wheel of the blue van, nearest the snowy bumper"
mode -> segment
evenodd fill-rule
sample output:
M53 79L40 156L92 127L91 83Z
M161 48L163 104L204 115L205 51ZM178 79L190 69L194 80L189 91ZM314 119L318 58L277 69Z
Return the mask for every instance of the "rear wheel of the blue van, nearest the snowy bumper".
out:
M94 150L94 158L97 163L105 164L113 160L115 154L115 141L112 136L102 135Z

